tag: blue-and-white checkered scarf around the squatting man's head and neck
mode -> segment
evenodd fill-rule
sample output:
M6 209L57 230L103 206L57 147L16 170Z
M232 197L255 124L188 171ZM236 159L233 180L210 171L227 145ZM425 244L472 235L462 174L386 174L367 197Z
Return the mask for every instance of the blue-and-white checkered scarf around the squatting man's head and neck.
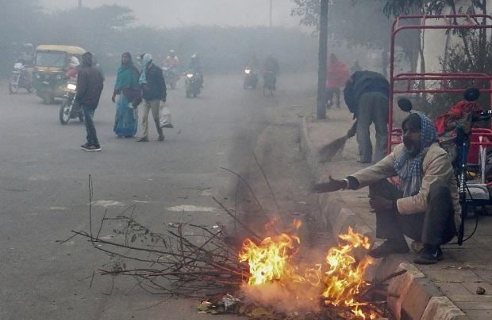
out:
M432 120L420 112L417 114L420 116L422 127L420 131L420 153L415 158L411 158L405 148L400 157L395 160L395 171L400 178L399 189L403 192L404 197L413 196L420 191L422 185L421 166L424 149L430 147L432 143L437 141L437 133Z

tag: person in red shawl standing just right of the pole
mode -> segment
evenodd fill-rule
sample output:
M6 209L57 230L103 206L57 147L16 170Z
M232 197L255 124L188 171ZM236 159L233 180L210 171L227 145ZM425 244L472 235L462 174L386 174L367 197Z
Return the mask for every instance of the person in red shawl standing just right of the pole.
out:
M350 73L346 64L338 60L337 56L332 53L326 66L326 107L333 105L334 96L336 106L340 108L340 89L343 88Z

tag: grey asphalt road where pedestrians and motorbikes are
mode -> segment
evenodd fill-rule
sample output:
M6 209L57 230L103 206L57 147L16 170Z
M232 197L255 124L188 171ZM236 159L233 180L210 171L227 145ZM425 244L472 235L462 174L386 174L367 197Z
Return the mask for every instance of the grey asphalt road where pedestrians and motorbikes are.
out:
M0 83L0 319L208 318L196 314L196 301L164 301L118 282L111 291L109 277L96 277L89 288L92 270L107 257L83 239L56 240L88 229L89 175L94 217L136 204L140 221L157 227L180 219L227 221L219 210L207 211L216 208L210 195L227 202L234 191L236 180L219 168L241 172L271 116L306 100L315 84L314 77L284 75L277 96L265 98L259 90L244 91L241 81L209 76L197 99L184 98L182 88L170 91L175 129L162 143L151 127L151 141L137 143L112 132L114 78L108 78L95 115L100 153L80 149L85 128L75 120L62 126L59 104L8 95ZM179 205L198 209L169 210Z

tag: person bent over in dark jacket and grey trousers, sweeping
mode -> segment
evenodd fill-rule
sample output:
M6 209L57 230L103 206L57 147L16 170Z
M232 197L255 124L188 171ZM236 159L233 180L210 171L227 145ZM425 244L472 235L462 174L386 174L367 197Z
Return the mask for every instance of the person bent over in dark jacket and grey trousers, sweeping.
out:
M357 119L357 143L361 163L377 162L386 156L388 145L388 93L389 83L380 73L356 71L348 79L343 97L350 112ZM376 146L372 157L369 127L376 128Z

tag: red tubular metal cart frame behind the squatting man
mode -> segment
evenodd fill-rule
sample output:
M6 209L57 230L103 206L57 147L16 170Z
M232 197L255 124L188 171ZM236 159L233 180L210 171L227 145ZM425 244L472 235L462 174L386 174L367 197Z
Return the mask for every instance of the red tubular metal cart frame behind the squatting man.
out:
M484 19L486 24L479 24L478 20ZM419 19L420 24L404 24L402 22L410 19ZM428 19L443 21L433 25L426 25ZM460 20L460 21L458 21ZM455 23L456 21L456 23ZM450 15L402 15L395 18L391 30L390 44L390 91L388 101L388 149L390 153L392 146L401 142L401 129L393 128L393 98L395 94L420 94L420 93L460 93L463 89L449 89L446 84L449 80L485 80L489 82L489 89L481 89L482 93L492 93L492 75L485 73L398 73L395 74L395 38L403 30L426 30L426 29L492 29L492 16L486 14L450 14ZM442 81L444 85L439 89L417 89L412 87L412 81ZM406 81L405 89L395 90L397 81ZM491 95L492 106L492 95ZM484 144L485 145L485 144Z

